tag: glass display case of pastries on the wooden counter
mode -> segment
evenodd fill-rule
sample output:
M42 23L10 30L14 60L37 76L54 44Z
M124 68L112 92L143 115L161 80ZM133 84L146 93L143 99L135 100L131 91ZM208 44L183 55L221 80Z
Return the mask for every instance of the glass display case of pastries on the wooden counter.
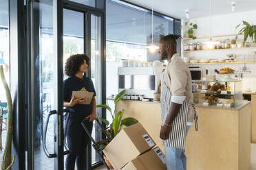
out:
M220 108L234 108L242 104L242 80L193 80L192 88L194 104Z

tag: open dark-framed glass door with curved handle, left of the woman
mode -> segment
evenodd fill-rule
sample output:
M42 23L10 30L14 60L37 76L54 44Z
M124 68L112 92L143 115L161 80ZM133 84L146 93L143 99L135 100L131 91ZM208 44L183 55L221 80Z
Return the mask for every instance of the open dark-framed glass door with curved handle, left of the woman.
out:
M62 1L27 1L28 169L64 169Z

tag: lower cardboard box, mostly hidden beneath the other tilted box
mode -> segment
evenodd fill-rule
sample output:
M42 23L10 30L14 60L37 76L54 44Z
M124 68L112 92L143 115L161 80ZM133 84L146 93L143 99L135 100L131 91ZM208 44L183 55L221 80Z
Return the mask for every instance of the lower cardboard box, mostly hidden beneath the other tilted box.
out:
M122 170L166 170L164 153L159 147L147 151L131 160Z

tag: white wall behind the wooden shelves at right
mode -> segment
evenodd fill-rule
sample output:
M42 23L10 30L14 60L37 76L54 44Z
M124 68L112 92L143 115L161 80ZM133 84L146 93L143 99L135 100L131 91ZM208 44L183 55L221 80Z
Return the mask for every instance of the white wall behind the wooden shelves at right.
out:
M202 17L198 19L190 19L190 22L198 24L198 29L195 32L195 36L197 37L205 37L205 36L220 36L224 34L236 34L235 27L242 23L242 21L247 21L250 24L256 25L256 10L249 12L239 12L239 13L231 13L231 14L222 14L218 16L212 16L212 27L210 33L210 18ZM182 25L184 25L186 20L182 20ZM184 27L183 27L184 29ZM182 30L182 33L184 30ZM225 40L226 38L235 38L235 36L228 37L219 37L213 38L213 40ZM242 42L243 36L239 36L237 42ZM193 43L193 42L204 42L209 40L206 39L195 39L195 40L184 40L184 43ZM183 48L182 48L183 49ZM208 59L220 59L226 58L227 54L233 53L237 55L247 55L248 53L253 53L256 51L255 49L226 49L226 50L216 50L216 51L195 51L190 53L182 53L182 57L189 57L191 60L201 60L203 58ZM242 71L242 67L244 64L200 64L196 65L200 66L202 70L209 69L210 73L213 73L214 69L222 69L226 66L235 69L236 71ZM256 90L256 63L255 64L245 64L247 67L247 71L251 71L250 74L243 75L243 89L246 90L250 88L250 90Z

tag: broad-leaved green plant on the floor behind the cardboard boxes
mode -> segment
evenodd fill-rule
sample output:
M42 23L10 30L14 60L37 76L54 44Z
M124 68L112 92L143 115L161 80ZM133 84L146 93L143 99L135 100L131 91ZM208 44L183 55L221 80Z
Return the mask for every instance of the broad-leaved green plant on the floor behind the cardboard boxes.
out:
M122 90L120 93L118 93L118 95L116 95L116 97L114 99L114 104L115 104L114 112L112 112L111 108L107 104L97 105L97 108L105 108L111 114L111 121L112 121L111 123L109 123L109 121L107 121L107 119L104 119L103 117L97 117L98 119L100 119L105 124L105 129L100 129L100 131L106 132L108 134L108 136L110 137L110 141L114 137L116 137L118 132L120 132L120 130L122 129L122 126L128 127L130 125L134 125L134 124L138 123L138 121L136 119L132 118L132 117L127 117L125 119L122 119L122 116L125 114L125 110L122 109L122 110L116 111L116 105L118 104L120 99L122 99L122 97L124 95L125 95L125 90ZM103 144L101 147L104 148L105 146L106 145ZM112 168L111 164L107 160L106 157L105 157L105 162L109 166L109 169L111 169Z

